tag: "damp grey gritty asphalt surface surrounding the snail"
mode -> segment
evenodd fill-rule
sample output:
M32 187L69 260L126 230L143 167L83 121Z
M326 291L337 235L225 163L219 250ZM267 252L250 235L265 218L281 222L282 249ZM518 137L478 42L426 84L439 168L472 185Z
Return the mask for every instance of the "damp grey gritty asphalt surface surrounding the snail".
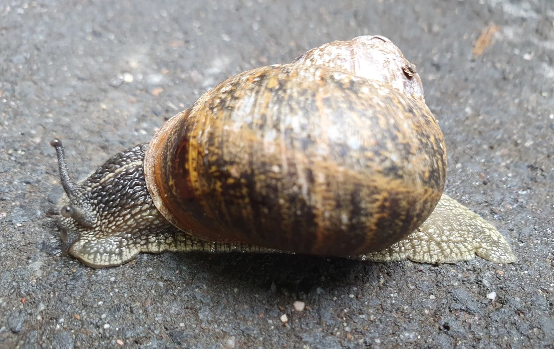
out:
M553 6L0 1L0 346L554 346ZM418 66L447 140L447 193L493 222L517 262L166 253L94 270L61 255L44 215L61 194L50 139L82 178L226 77L362 34Z

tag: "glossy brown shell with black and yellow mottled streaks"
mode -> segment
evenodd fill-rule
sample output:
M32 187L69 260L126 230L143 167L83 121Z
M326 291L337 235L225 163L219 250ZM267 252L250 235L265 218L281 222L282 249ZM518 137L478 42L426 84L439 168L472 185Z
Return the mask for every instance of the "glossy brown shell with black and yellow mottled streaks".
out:
M148 145L156 207L209 241L296 253L401 240L437 205L447 162L412 67L388 39L361 37L231 77Z

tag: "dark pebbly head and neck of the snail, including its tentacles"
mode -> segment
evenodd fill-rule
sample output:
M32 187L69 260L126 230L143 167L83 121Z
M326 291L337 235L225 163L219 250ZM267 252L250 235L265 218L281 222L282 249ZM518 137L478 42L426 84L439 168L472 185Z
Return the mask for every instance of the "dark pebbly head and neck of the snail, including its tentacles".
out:
M141 252L150 234L168 227L146 187L142 160L147 144L116 154L79 183L70 178L61 140L50 145L58 155L65 194L47 214L57 216L64 253L94 268L119 265Z

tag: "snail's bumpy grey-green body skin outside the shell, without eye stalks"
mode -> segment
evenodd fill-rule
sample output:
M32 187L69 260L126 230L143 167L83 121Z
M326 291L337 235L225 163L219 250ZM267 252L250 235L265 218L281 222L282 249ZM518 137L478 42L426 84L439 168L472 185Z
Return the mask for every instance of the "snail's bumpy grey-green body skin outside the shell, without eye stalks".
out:
M141 252L246 252L289 253L243 243L202 241L191 231L180 231L153 205L143 172L146 144L121 152L100 166L79 185L88 193L83 200L97 202L91 213L93 227L58 216L72 256L93 268L131 261ZM59 207L70 204L63 195ZM443 194L427 220L408 237L382 251L351 256L372 262L410 259L422 263L469 261L475 254L494 263L515 261L504 237L483 218Z

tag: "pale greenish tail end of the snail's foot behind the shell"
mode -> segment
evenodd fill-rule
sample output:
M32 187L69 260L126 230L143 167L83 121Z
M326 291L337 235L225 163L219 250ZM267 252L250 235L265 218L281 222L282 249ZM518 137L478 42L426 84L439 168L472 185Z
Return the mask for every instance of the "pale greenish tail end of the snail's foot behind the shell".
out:
M443 194L433 213L416 232L383 251L356 259L372 262L409 259L434 264L469 261L475 254L499 264L516 260L495 227Z

